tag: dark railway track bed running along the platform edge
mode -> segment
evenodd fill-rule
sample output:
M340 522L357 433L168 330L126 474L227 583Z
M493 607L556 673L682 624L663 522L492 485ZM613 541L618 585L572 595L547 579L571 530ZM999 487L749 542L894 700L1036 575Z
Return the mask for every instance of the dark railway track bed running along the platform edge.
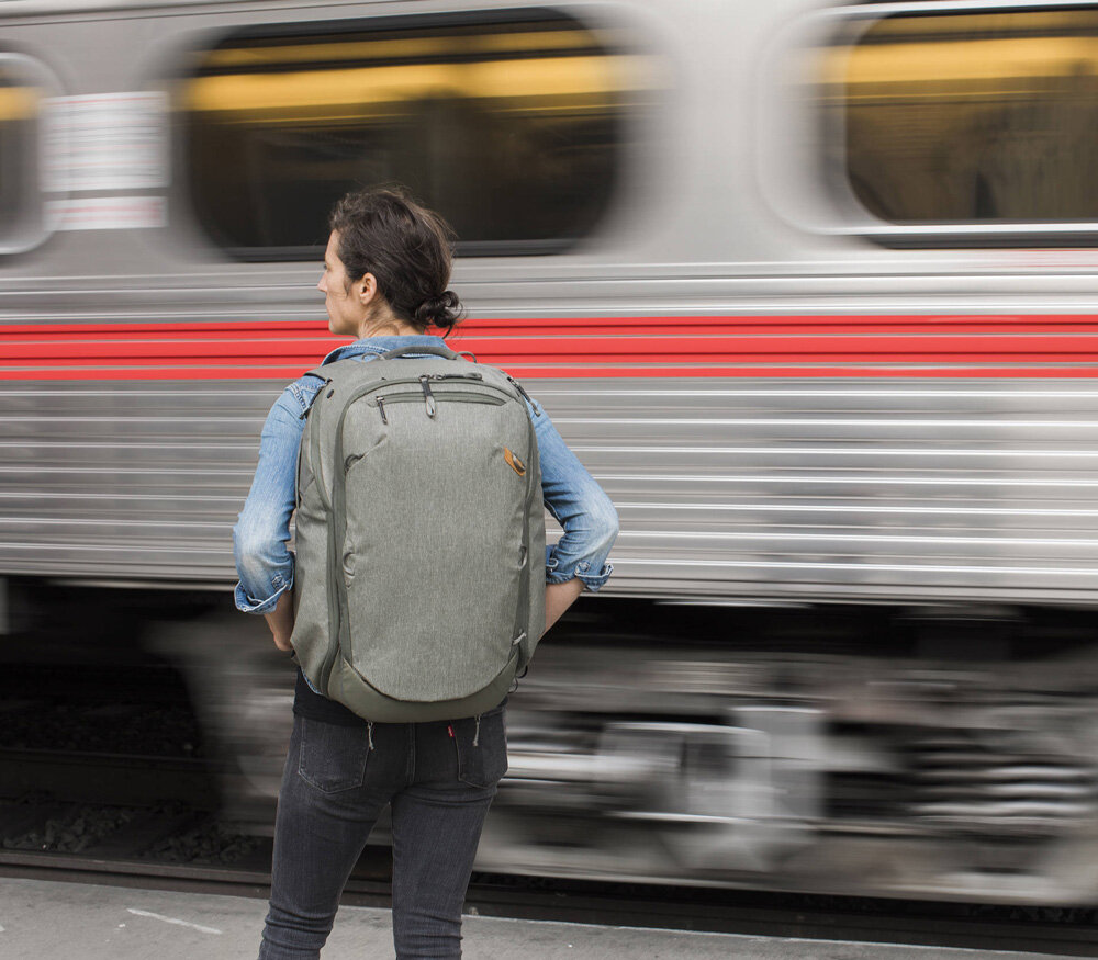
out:
M110 823L97 831L97 818ZM51 827L51 824L53 825ZM78 826L74 826L78 824ZM0 805L0 876L266 897L270 839L210 813L79 803ZM34 839L38 838L38 843ZM388 906L390 859L369 847L344 903ZM1098 955L1091 911L761 894L474 874L467 910L485 916L818 940Z

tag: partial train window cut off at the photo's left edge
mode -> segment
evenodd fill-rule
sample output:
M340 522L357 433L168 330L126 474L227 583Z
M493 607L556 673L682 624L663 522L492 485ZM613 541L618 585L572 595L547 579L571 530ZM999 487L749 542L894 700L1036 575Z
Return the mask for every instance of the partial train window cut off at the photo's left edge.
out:
M53 91L33 61L0 53L0 253L20 252L44 237L38 192L38 116Z

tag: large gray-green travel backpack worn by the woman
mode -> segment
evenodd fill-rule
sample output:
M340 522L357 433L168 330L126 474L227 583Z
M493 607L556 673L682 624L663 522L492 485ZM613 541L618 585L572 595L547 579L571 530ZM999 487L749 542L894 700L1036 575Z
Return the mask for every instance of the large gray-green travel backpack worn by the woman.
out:
M291 642L303 673L370 721L496 707L545 630L525 391L433 346L310 373L325 383L298 454Z

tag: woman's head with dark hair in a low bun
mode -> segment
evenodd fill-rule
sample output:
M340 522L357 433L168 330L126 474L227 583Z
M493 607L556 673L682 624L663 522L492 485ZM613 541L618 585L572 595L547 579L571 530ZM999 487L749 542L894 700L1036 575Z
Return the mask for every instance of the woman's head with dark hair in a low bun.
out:
M328 226L317 289L333 334L453 327L461 315L447 290L453 234L438 214L399 190L373 188L348 193Z

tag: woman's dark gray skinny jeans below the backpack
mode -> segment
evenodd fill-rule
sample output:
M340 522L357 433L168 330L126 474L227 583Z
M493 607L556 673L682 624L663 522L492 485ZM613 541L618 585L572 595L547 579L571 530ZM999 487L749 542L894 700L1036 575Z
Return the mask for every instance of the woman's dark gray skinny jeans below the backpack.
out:
M372 730L295 716L259 960L320 957L344 884L386 803L396 958L460 958L466 889L506 770L502 704L479 720Z

